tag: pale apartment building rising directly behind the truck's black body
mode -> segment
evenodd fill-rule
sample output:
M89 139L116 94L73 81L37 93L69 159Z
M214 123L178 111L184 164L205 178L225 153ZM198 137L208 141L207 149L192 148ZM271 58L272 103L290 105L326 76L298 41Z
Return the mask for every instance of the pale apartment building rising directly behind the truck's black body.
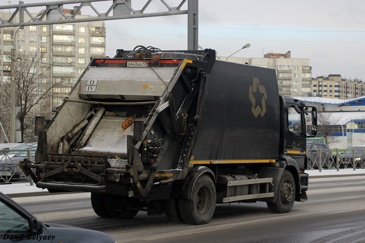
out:
M217 57L226 60L227 57ZM279 94L288 96L307 96L312 91L311 76L312 67L309 59L291 58L291 52L267 53L264 58L237 58L230 57L229 62L248 63L250 65L273 68L276 71L279 86Z

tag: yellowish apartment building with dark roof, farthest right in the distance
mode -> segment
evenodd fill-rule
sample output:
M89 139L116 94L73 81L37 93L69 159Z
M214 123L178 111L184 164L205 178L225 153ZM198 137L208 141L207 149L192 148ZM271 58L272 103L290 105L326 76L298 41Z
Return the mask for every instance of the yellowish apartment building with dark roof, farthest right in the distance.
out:
M333 99L352 99L365 95L365 84L361 79L341 78L339 74L312 78L312 93L315 96Z

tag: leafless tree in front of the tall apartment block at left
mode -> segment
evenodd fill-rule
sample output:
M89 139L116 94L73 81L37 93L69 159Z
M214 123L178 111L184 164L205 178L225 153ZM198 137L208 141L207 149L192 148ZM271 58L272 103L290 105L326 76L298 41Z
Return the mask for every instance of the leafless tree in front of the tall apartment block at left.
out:
M16 116L20 121L22 142L35 139L32 135L34 117L42 113L40 102L52 95L52 89L59 83L46 83L51 75L51 65L42 63L43 53L24 53L15 62L15 106L20 107ZM1 103L4 107L10 104L10 83L3 85ZM27 138L27 139L26 139Z

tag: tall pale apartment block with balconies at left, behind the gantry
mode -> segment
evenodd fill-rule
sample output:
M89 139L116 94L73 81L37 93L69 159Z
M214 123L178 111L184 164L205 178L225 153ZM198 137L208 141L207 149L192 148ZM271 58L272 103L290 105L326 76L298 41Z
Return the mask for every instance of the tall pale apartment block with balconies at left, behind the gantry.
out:
M71 15L73 9L64 9L64 13ZM32 15L35 17L37 14ZM3 19L9 19L10 16L11 13L0 13ZM77 17L90 16L79 12ZM27 18L24 22L30 20L29 16ZM15 19L18 21L19 16ZM69 94L90 59L105 57L105 41L104 21L24 26L24 30L19 27L0 28L0 96L3 95L3 88L9 86L4 84L10 82L11 49L15 49L15 58L40 53L41 59L29 61L39 61L40 68L46 70L40 81L44 87L42 90L53 88L50 95L35 107L34 112L51 118L52 110ZM4 129L8 130L10 115L7 107L0 105L0 113Z

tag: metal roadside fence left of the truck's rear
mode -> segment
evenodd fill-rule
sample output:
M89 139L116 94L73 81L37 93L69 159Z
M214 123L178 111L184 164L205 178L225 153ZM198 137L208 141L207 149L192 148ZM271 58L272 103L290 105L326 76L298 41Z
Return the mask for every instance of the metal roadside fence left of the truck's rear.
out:
M30 179L29 176L26 176L24 172L19 168L19 162L15 162L16 155L22 154L22 152L27 152L27 156L22 156L22 158L32 158L31 149L3 149L1 152L4 152L3 154L0 154L0 184L8 184L8 183L30 183L30 185L33 185L33 180ZM34 151L34 150L33 150ZM15 154L15 156L10 157L9 152L18 152ZM11 153L12 155L14 153ZM15 169L15 170L14 170ZM20 172L20 174L19 174ZM19 176L18 176L19 175ZM17 178L15 178L15 176ZM19 179L19 177L21 177ZM15 181L16 180L16 181Z

